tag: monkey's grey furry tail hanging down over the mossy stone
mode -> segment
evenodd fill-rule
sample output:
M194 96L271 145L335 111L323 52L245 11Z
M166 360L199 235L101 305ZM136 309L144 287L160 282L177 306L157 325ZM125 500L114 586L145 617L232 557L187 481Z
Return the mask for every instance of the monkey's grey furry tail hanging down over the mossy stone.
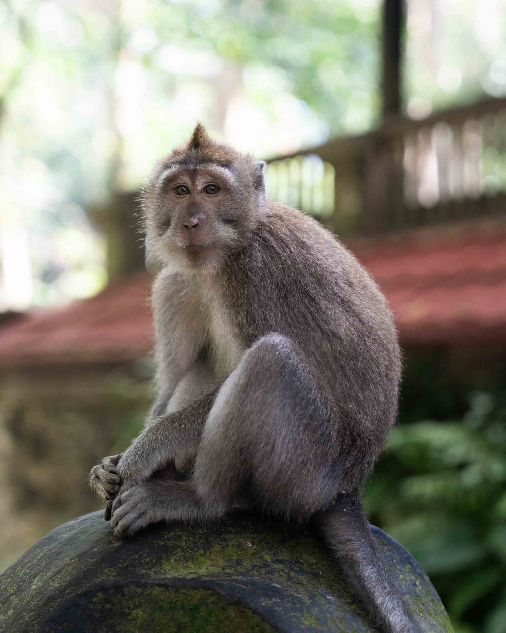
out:
M423 633L374 541L361 499L340 497L321 515L319 527L374 624L386 633Z

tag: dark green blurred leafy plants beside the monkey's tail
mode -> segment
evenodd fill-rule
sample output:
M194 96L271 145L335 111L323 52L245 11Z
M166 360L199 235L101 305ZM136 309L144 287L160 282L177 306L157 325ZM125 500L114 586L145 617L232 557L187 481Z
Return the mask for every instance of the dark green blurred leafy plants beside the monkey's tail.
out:
M505 391L471 392L460 420L398 426L366 506L426 569L456 633L505 633Z

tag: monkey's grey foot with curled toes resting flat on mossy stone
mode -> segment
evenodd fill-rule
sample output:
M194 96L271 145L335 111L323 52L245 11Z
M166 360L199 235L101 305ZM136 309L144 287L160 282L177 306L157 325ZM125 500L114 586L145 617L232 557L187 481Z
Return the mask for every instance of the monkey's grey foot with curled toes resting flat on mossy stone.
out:
M209 517L190 482L151 480L137 484L114 499L114 536L132 536L159 521L192 521Z

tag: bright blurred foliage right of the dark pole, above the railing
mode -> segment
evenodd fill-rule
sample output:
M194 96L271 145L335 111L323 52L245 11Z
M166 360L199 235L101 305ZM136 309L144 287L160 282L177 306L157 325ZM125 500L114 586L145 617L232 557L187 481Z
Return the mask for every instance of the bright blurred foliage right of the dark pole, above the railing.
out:
M413 118L506 94L504 0L409 0L404 106Z

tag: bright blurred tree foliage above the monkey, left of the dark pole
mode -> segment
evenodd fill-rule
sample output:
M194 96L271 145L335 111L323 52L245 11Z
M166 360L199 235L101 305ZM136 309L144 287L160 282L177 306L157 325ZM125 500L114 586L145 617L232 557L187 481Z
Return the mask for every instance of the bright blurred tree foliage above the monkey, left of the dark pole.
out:
M86 212L197 120L259 156L370 128L380 33L379 0L0 0L0 226L28 231L32 302L106 282Z

